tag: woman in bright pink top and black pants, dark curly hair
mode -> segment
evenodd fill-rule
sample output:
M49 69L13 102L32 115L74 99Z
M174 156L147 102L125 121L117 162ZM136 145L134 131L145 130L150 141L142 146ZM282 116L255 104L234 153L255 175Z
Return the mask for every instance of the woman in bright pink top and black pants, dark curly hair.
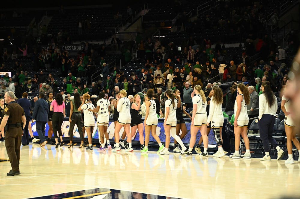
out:
M59 134L60 138L60 146L64 145L64 141L62 140L62 134L61 134L61 125L64 121L64 117L66 117L66 106L62 100L62 95L60 93L55 95L55 100L52 101L50 105L50 111L53 111L52 115L52 128L53 128L53 134L55 138L55 148L58 147L58 138L57 138L57 132Z

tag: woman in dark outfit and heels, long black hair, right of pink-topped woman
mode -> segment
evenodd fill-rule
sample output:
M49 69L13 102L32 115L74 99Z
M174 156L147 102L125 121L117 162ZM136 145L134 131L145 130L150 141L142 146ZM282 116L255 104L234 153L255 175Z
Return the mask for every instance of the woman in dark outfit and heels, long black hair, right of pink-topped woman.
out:
M74 99L70 101L71 109L70 109L70 117L69 117L69 122L70 122L70 129L69 129L69 136L70 136L70 148L73 146L73 130L75 124L77 125L81 144L79 148L82 148L84 146L83 144L83 131L82 131L82 116L81 116L81 111L78 111L78 107L81 105L81 100L80 100L80 95L79 93L74 94Z

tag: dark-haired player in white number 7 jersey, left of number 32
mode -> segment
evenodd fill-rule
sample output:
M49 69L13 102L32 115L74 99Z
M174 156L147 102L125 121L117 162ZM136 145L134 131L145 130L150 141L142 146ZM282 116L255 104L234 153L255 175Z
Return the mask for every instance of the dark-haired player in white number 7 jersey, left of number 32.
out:
M97 107L95 109L89 109L88 111L92 111L94 113L98 113L97 117L97 125L98 125L98 136L99 142L101 144L99 151L105 151L105 143L104 143L104 136L107 142L107 149L111 150L112 147L110 145L110 138L107 133L107 126L109 123L109 111L108 107L110 106L110 101L104 99L105 93L100 92L99 97L97 99Z

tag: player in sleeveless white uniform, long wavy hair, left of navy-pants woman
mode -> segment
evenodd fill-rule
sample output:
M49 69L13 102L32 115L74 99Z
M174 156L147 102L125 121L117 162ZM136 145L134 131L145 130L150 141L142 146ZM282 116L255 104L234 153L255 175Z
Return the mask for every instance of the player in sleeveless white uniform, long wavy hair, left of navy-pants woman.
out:
M247 127L249 123L249 117L247 114L247 104L250 102L250 94L248 88L243 84L238 84L238 95L234 102L234 137L235 137L235 152L229 155L230 158L251 158L250 143L247 136ZM239 154L240 137L243 137L246 146L246 153L244 155Z

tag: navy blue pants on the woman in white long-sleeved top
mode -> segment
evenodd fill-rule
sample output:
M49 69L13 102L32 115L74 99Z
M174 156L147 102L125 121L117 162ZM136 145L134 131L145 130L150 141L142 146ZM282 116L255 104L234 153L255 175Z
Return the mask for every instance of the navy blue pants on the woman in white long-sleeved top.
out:
M262 118L258 121L259 136L262 140L265 152L270 151L269 143L271 143L274 148L279 146L276 140L273 138L275 118L276 117L273 115L263 114Z

